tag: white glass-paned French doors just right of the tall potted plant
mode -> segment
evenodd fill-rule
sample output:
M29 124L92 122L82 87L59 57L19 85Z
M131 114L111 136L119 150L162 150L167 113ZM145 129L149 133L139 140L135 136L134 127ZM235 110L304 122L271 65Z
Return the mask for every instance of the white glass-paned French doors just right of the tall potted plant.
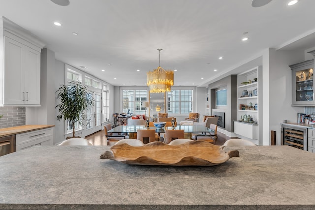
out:
M92 97L94 97L94 106L90 107L86 111L86 128L85 128L85 136L88 136L92 133L95 133L101 130L101 93L90 93Z

